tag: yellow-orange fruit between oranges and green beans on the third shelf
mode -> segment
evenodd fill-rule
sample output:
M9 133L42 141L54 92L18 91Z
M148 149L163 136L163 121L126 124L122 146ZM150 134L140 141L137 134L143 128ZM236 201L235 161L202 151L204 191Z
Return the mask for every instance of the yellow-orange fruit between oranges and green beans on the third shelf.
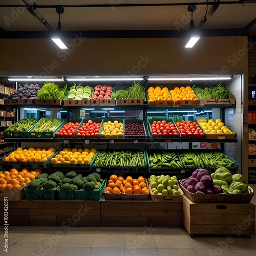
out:
M52 164L90 164L97 150L95 148L63 148L56 156L51 158Z

